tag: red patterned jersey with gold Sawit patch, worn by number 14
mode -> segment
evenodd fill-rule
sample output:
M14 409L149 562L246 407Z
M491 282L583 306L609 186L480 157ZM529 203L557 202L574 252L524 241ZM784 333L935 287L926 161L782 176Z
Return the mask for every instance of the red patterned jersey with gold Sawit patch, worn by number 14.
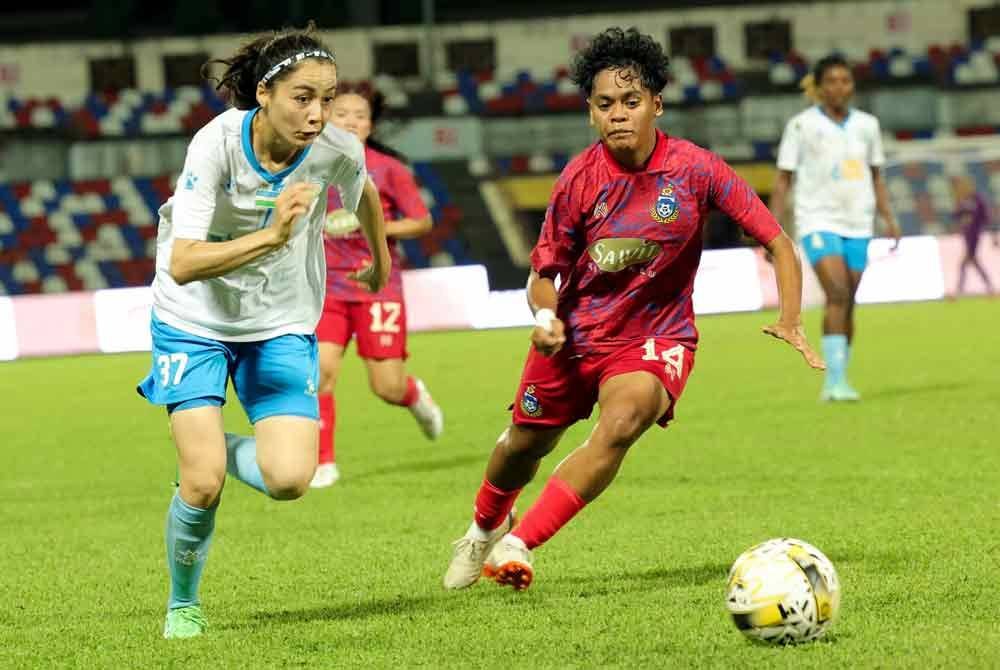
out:
M713 207L761 244L781 233L721 158L660 131L642 170L625 170L600 142L570 161L531 253L539 275L562 276L567 348L607 352L661 337L695 349L691 294Z

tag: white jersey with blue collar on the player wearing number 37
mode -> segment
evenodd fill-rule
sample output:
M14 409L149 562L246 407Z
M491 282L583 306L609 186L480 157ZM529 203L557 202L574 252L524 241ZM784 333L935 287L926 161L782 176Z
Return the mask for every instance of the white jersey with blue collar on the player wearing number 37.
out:
M277 173L257 161L251 143L256 112L231 109L215 117L188 145L184 172L160 208L153 312L185 332L215 340L265 340L316 330L326 292L323 220L326 190L357 209L367 180L364 147L332 124ZM312 182L319 196L295 224L288 243L222 277L179 286L170 276L174 240L221 242L271 223L281 190Z

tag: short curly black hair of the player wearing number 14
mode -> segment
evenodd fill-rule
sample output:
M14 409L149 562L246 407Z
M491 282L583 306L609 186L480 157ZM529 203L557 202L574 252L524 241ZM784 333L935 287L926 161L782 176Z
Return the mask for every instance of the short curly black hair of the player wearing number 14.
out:
M643 88L659 95L670 79L670 58L656 40L637 28L608 28L595 35L587 48L576 55L570 77L589 96L594 78L608 69L634 70Z

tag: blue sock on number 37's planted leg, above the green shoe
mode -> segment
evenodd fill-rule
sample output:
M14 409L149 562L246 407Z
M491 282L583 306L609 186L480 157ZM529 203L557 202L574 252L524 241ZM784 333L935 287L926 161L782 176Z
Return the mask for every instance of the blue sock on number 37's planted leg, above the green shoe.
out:
M205 568L215 530L215 504L209 509L191 507L175 493L167 511L167 566L170 599L167 609L197 605L198 584Z

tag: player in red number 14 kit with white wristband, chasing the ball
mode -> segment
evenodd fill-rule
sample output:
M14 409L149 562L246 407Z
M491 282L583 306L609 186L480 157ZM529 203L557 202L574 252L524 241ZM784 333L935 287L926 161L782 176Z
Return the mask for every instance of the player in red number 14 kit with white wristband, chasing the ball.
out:
M824 367L799 319L802 270L792 241L722 159L657 130L667 77L660 45L634 28L604 31L574 62L601 139L563 170L531 254L532 347L512 425L490 456L472 525L455 542L447 588L480 574L527 588L531 550L607 488L647 428L673 417L698 342L691 296L710 208L774 257L781 311L764 332ZM590 437L514 526L514 500L540 459L595 403Z

